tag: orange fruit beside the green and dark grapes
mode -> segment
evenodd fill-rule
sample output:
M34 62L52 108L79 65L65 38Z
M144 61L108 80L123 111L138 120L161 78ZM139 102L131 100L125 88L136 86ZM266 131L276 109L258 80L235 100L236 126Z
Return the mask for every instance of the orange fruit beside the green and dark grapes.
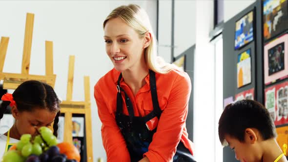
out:
M67 159L74 159L77 162L80 162L80 153L79 150L71 143L62 142L58 143L57 147L60 149L61 154L65 154Z

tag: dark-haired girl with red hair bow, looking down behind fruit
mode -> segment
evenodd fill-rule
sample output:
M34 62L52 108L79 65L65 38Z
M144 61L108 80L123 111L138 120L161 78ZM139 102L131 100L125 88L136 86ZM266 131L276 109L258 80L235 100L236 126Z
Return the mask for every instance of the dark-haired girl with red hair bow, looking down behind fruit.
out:
M60 115L59 99L53 88L40 81L25 81L13 92L1 98L0 119L11 107L15 123L8 132L0 135L0 159L10 146L17 143L21 135L37 135L35 128L52 126L57 137Z

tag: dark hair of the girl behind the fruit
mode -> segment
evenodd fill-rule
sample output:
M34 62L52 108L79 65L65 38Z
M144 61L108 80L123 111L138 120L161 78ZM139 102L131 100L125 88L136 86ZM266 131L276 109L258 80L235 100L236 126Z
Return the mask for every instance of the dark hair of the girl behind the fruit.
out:
M33 111L35 108L47 109L51 112L57 112L54 120L54 135L57 137L58 121L60 115L59 99L53 88L40 81L25 81L20 84L12 94L16 102L18 111ZM8 110L10 101L2 101L0 104L0 119Z

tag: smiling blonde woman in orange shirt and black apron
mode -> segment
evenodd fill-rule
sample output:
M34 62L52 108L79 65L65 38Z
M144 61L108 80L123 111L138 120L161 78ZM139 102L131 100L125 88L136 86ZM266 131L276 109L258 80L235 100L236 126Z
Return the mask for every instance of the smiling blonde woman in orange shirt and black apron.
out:
M191 81L156 57L146 12L120 6L103 29L114 68L96 83L94 97L107 161L195 162L185 126Z

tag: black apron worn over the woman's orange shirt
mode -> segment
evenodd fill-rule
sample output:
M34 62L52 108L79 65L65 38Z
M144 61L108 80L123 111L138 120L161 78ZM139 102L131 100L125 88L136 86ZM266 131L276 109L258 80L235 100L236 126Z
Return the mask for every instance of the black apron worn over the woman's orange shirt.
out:
M155 72L149 70L150 90L153 102L153 111L144 117L135 117L133 104L123 88L120 87L122 74L120 74L117 82L117 110L116 122L125 139L131 162L138 162L143 159L143 154L148 151L149 144L152 142L153 134L156 132L158 121L162 110L159 107ZM123 100L121 91L125 95L125 103L129 116L123 114ZM152 123L152 126L151 126ZM153 124L154 123L154 124ZM155 126L156 124L156 126ZM150 128L150 129L148 129ZM179 142L177 151L173 157L173 162L196 162L189 150L182 142Z

